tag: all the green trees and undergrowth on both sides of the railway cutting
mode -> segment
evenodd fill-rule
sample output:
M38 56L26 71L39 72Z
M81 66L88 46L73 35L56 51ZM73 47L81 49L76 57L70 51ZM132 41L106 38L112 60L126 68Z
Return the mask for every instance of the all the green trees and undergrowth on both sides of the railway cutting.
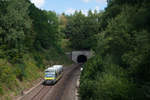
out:
M150 1L107 2L103 12L58 17L29 0L0 1L0 97L26 88L45 65L64 64L63 51L93 49L81 100L149 100Z

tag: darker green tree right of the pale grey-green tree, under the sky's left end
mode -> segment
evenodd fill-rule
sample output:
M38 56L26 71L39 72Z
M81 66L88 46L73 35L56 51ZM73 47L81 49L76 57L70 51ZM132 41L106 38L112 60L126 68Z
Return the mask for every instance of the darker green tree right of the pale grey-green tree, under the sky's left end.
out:
M36 32L33 45L35 49L48 49L58 45L60 34L58 32L58 17L56 13L40 10L34 5L31 5L29 10L29 15L33 19L33 29Z

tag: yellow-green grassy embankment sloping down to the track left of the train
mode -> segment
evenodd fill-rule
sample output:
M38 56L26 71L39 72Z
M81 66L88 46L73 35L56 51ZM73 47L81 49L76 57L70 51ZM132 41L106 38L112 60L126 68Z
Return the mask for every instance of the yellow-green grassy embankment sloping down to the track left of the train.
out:
M12 65L7 60L0 59L0 100L10 100L22 90L31 87L33 81L43 77L46 65L72 63L63 53L58 53L55 49L26 54L23 62L24 64ZM21 75L22 81L19 80Z

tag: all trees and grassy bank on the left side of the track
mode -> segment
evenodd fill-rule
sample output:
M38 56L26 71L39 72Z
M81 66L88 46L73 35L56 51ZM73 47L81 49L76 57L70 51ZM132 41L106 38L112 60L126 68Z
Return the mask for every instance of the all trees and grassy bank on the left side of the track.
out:
M29 0L1 0L0 99L12 99L29 87L46 65L69 64L63 38L55 12L40 10Z

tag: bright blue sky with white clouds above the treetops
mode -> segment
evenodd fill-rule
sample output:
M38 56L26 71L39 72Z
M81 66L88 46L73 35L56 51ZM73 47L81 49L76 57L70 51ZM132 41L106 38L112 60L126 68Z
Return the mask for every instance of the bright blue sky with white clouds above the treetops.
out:
M55 11L57 14L73 14L75 10L81 10L87 15L88 10L100 11L107 6L107 0L31 0L36 7L43 10Z

